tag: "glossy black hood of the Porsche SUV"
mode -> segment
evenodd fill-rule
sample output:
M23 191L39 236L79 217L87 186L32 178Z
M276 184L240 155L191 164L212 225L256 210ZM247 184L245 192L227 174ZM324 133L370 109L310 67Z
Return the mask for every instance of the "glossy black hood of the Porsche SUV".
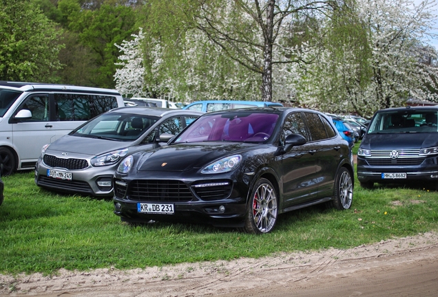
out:
M251 151L257 144L222 142L209 144L174 144L143 153L138 161L138 171L185 171L201 168L211 162Z

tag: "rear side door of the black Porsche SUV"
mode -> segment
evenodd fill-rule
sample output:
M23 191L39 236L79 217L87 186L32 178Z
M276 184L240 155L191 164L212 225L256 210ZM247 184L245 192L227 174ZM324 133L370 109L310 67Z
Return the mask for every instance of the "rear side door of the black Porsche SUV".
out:
M307 126L315 144L317 198L333 195L333 187L340 160L340 144L336 132L326 118L317 113L305 112Z

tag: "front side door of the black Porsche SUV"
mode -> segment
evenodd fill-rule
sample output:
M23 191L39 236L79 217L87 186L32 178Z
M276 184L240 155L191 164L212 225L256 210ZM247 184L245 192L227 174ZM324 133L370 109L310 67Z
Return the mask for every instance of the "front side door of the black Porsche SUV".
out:
M295 112L286 116L281 140L290 134L300 134L310 141L309 130L306 128L302 113ZM315 199L317 184L315 184L316 157L315 148L311 142L302 146L295 146L281 155L279 176L282 184L284 208Z

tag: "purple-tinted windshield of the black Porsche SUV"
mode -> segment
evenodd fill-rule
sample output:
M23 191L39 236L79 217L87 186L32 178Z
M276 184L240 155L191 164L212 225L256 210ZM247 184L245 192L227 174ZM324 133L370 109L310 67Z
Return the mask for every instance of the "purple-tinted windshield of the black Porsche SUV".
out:
M278 117L276 113L249 111L202 115L178 136L175 143L266 142L273 133Z

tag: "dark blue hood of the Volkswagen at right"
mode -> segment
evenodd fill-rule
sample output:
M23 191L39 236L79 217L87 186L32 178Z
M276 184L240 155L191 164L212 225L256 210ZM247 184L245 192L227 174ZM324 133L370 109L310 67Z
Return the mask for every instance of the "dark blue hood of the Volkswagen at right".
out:
M437 133L367 134L361 148L371 150L406 150L437 146Z

